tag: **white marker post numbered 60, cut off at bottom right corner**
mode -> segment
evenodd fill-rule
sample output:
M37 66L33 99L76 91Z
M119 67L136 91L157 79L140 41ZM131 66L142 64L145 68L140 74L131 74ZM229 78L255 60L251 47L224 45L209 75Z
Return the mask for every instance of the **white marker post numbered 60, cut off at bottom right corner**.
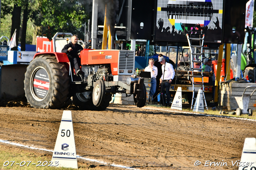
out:
M238 170L256 170L256 139L254 137L247 137L244 140L241 160L238 164L235 164L235 166L237 165L239 166Z

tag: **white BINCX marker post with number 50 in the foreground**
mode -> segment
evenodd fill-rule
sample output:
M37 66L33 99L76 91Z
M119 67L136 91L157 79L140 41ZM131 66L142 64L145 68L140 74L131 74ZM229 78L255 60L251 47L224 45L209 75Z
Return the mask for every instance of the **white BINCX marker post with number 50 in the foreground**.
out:
M62 114L60 129L52 154L53 164L56 164L56 161L58 161L56 167L78 169L71 111L64 110Z

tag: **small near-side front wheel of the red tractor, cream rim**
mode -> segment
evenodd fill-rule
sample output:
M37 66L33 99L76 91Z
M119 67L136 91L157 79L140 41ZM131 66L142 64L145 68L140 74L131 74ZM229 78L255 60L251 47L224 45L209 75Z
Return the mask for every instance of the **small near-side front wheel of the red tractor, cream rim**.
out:
M92 102L95 106L100 106L105 97L106 87L103 80L97 80L93 87Z

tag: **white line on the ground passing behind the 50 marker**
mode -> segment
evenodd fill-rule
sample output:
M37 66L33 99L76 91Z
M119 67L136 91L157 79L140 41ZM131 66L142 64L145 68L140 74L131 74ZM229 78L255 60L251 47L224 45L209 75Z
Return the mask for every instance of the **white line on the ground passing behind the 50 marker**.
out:
M15 145L15 146L18 146L18 147L24 147L24 148L28 148L28 149L36 149L36 150L44 150L44 151L48 151L48 152L53 152L53 150L48 150L48 149L43 149L43 148L36 148L36 147L28 146L28 145L22 145L22 144L10 142L10 141L4 141L2 139L0 139L0 142L10 144L10 145ZM104 161L101 161L101 160L86 158L86 157L82 157L82 156L79 156L79 155L76 155L76 158L83 159L83 160L88 160L88 161L91 161L91 162L98 162L98 163L101 163L101 164L105 164L107 166L115 166L115 167L125 168L125 169L129 169L129 170L140 170L140 169L136 169L136 168L127 167L127 166L124 166L124 165L110 164L110 163L107 163L107 162L104 162Z

